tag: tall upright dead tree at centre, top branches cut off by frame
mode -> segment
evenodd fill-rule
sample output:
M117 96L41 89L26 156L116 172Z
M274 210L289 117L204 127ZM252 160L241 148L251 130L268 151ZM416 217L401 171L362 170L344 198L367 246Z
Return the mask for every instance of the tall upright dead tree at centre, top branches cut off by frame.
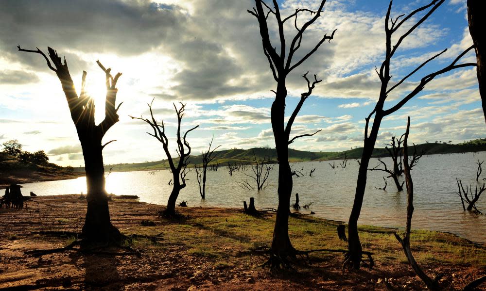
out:
M292 246L289 238L289 207L290 197L292 194L292 170L289 165L289 145L295 141L295 139L303 136L311 136L312 134L301 134L293 138L290 138L290 132L292 125L294 124L295 117L299 113L304 101L312 94L312 90L315 85L322 80L317 80L317 76L314 75L313 81L307 78L307 74L302 75L307 82L308 90L300 96L300 100L293 110L290 118L285 125L285 103L287 97L286 78L287 76L299 65L305 62L324 41L331 40L334 37L334 32L329 36L324 36L317 42L313 49L306 52L305 55L294 60L295 53L300 48L302 37L304 32L321 16L324 4L326 0L321 0L317 10L310 9L296 9L295 12L289 16L281 16L280 9L278 7L278 1L273 0L273 8L270 7L263 0L255 0L255 7L248 12L255 16L258 20L260 27L261 42L263 45L263 53L265 54L270 69L272 71L273 78L277 82L277 89L273 91L275 93L275 100L272 103L271 108L271 121L272 130L275 138L275 146L278 156L278 210L277 218L275 221L275 228L273 233L272 245L270 247L270 259L269 264L273 268L279 268L282 264L288 265L289 259L294 260L297 251ZM302 13L310 13L312 18L306 21L301 27L297 25L297 16ZM271 33L269 32L267 19L268 16L275 17L278 26L278 45L272 44ZM292 38L290 46L288 46L285 39L284 25L287 21L293 21L297 33ZM288 46L288 47L287 47ZM278 47L279 51L276 49Z

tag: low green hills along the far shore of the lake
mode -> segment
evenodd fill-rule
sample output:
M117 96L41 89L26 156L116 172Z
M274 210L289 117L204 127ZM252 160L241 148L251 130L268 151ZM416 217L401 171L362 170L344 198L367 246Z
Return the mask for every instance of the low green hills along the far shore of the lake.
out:
M450 145L445 143L427 143L417 145L417 150L425 150L426 154L451 154L464 152L486 151L486 139L473 140L462 144ZM217 158L213 161L220 165L229 163L251 163L254 161L254 155L258 160L265 158L270 162L277 162L277 151L275 148L261 148L255 147L250 149L227 149L215 151ZM308 161L328 161L328 160L342 160L345 154L348 159L361 158L363 148L353 148L342 152L310 152L296 149L289 149L290 162L308 162ZM385 148L375 148L373 157L388 157L388 151ZM176 161L178 159L175 159ZM201 164L202 155L191 156L189 158L191 165ZM167 160L156 162L139 162L139 163L119 163L112 165L105 165L105 170L112 172L126 172L126 171L146 171L159 170L169 168ZM74 168L75 172L84 172L84 167Z

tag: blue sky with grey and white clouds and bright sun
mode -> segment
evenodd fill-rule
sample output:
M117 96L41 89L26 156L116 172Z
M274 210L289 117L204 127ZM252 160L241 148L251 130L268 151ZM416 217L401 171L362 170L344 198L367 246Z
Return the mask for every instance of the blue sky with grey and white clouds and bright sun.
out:
M395 0L392 16L426 3ZM24 150L44 150L51 162L84 164L59 80L42 56L19 52L20 45L46 52L50 46L65 56L78 92L86 70L97 122L104 118L105 86L96 60L115 73L122 72L117 84L117 102L123 101L120 121L104 137L104 142L117 142L105 147L106 164L166 158L162 145L146 133L151 128L129 117L149 116L147 103L152 99L156 119L165 121L173 152L173 102L187 104L183 130L199 125L188 135L193 154L205 150L212 136L213 145L221 149L275 147L270 124L275 95L270 90L275 90L276 82L263 54L257 20L247 13L254 4L250 0L0 1L0 144L17 139ZM363 146L364 117L373 110L380 90L375 65L379 67L383 60L388 4L388 0L328 0L322 16L304 34L295 59L312 49L323 34L337 29L330 42L287 78L287 116L307 91L301 75L309 71L323 80L306 100L291 137L322 130L298 139L292 148L341 151ZM310 0L279 1L282 15L318 5ZM448 51L394 90L385 108L410 92L422 76L449 65L472 45L466 12L466 0L446 0L405 39L391 63L392 83L435 53ZM309 17L300 14L297 24ZM268 17L273 36L274 20ZM287 39L296 33L293 25L285 29ZM475 62L473 52L462 59L470 62ZM377 146L401 135L407 116L414 143L482 138L482 114L475 67L455 70L431 81L387 116Z

